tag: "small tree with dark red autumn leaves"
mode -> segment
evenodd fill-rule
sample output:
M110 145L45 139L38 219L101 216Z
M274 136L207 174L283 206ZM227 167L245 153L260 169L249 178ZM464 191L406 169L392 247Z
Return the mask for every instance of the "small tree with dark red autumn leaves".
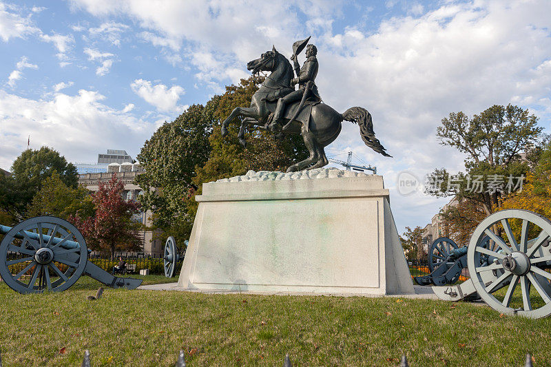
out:
M100 182L98 191L92 194L96 215L82 218L81 213L76 213L69 218L81 231L90 249L109 251L112 260L115 251L140 249L138 230L141 223L132 217L139 213L141 205L133 200L125 201L123 191L123 182L113 174L107 185Z

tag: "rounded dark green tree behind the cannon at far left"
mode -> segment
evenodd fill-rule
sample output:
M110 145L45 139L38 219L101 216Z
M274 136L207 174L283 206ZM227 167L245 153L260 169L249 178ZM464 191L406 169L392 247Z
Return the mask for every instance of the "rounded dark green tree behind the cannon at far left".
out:
M0 209L21 220L46 178L56 171L68 187L76 187L76 167L48 147L27 149L13 162L12 176L0 175Z

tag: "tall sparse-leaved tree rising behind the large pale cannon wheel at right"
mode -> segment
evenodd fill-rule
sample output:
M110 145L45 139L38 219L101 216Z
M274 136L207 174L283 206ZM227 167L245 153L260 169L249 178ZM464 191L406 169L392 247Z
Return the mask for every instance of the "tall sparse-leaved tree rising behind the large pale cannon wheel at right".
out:
M437 128L439 143L466 155L465 171L450 175L444 168L435 169L428 176L426 192L456 196L468 208L448 210L446 220L451 227L476 227L480 209L490 215L504 194L519 189L533 163L533 152L541 147L543 128L537 120L528 109L513 105L493 105L472 118L457 112L442 119Z

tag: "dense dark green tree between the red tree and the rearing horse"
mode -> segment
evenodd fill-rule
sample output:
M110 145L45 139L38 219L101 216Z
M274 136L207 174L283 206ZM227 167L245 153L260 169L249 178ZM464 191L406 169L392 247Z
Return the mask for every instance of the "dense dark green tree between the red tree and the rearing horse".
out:
M187 218L185 196L196 167L209 157L218 98L205 106L191 105L176 120L159 127L137 157L145 169L135 180L143 189L139 200L145 210L154 212L154 227L173 235L176 243L183 243L191 232L193 218Z

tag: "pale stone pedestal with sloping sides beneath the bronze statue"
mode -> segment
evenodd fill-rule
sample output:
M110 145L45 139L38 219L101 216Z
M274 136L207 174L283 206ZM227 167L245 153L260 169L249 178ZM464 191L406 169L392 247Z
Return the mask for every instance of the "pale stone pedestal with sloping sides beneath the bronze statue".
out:
M382 176L249 171L202 187L178 287L413 293Z

